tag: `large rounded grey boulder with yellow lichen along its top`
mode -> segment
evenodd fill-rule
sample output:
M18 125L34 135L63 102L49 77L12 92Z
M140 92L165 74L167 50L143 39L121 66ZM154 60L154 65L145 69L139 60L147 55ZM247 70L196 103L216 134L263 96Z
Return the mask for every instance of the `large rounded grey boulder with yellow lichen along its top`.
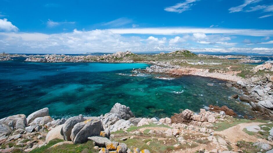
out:
M88 137L100 135L100 120L88 119L77 123L71 131L71 140L74 144L85 143Z

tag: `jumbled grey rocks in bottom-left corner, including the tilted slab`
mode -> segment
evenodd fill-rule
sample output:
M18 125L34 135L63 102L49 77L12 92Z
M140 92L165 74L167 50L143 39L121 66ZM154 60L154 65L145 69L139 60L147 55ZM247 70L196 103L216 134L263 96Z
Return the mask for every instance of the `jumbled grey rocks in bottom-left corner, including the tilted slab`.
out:
M0 119L0 145L15 143L13 147L0 148L0 152L12 152L15 148L28 152L46 145L41 140L46 135L45 129L50 130L64 122L65 119L52 119L48 108L33 112L27 118L24 114L17 114Z

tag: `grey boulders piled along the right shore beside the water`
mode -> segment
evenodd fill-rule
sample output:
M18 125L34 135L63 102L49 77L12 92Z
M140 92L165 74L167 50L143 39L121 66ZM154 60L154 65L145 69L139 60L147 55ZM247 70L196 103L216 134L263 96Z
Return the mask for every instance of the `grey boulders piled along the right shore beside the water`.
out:
M245 82L237 81L234 83L229 81L226 85L242 90L243 95L239 97L241 101L249 103L253 110L264 114L270 120L273 119L273 76L267 75L265 80L260 81L255 78Z

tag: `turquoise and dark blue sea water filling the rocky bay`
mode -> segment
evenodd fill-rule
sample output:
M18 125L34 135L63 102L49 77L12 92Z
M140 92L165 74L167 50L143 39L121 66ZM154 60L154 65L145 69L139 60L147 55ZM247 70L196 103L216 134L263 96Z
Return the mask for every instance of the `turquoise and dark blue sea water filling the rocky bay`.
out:
M134 74L145 63L30 63L24 58L0 62L0 118L30 114L44 107L55 118L98 116L118 102L139 117L166 117L181 109L199 112L209 104L227 105L240 115L250 106L217 79L183 76L173 80ZM213 83L214 86L208 86Z

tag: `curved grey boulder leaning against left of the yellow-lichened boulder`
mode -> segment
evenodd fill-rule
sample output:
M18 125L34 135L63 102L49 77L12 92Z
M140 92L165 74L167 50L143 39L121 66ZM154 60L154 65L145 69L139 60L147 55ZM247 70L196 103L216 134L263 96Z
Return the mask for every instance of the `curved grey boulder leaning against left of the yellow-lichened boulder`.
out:
M79 116L70 117L67 121L65 121L61 131L61 134L64 136L64 140L66 141L71 140L70 135L71 135L72 129L74 128L74 125L82 121L85 121L82 114L80 114Z

